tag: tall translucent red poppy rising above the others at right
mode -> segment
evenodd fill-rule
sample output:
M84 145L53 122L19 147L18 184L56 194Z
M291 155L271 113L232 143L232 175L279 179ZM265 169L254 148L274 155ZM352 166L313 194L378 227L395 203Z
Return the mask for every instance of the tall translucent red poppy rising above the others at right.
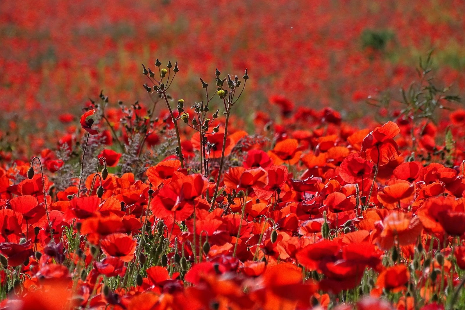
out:
M400 154L399 146L393 140L399 132L399 126L393 122L376 127L363 139L361 154L374 163L386 165Z

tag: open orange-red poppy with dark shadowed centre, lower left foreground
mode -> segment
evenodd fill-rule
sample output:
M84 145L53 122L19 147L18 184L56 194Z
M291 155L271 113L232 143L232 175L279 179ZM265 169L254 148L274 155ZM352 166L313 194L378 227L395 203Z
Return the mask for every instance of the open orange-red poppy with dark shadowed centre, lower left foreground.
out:
M126 234L115 232L100 240L100 247L106 256L119 257L123 262L130 262L136 251L137 241Z

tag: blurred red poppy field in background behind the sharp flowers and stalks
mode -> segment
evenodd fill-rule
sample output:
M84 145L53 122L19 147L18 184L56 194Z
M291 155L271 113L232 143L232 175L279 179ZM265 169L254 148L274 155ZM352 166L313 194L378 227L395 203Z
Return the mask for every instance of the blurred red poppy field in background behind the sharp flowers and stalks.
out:
M279 95L360 119L368 96L408 87L431 48L436 79L463 94L464 14L463 0L3 0L0 139L56 145L101 90L110 105L148 104L141 64L157 58L179 62L171 90L190 102L199 77L248 68L244 115Z

